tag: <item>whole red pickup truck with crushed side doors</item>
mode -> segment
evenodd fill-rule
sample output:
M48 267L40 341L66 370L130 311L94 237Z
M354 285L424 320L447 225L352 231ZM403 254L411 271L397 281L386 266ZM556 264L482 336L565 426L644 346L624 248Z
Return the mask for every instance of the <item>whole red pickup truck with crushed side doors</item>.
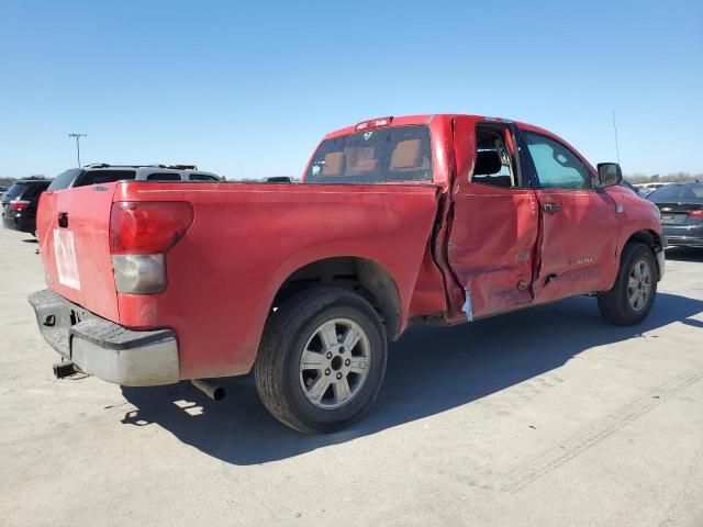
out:
M373 402L387 339L588 294L637 324L665 269L657 208L568 143L471 115L328 134L302 183L118 181L45 192L49 289L30 302L64 357L125 385L254 370L305 433ZM440 352L440 350L437 350Z

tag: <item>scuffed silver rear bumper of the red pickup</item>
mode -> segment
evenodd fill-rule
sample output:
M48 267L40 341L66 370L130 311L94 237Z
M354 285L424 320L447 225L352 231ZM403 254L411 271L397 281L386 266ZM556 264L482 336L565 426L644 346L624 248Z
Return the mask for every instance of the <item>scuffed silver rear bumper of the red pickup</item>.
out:
M29 301L44 339L86 373L126 386L179 381L178 341L170 329L133 332L48 289Z

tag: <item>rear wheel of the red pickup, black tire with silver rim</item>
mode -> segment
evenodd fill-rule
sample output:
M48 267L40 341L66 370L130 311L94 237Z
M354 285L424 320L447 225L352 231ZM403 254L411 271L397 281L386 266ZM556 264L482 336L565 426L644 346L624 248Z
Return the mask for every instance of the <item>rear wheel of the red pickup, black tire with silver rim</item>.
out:
M364 415L383 381L386 335L361 296L319 287L271 314L254 366L259 397L281 423L330 433Z

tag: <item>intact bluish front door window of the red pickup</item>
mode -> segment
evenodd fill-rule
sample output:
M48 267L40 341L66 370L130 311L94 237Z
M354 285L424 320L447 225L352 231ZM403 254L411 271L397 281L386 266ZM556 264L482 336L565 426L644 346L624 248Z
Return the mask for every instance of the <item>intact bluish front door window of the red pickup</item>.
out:
M544 135L523 133L544 189L592 189L591 175L566 146Z

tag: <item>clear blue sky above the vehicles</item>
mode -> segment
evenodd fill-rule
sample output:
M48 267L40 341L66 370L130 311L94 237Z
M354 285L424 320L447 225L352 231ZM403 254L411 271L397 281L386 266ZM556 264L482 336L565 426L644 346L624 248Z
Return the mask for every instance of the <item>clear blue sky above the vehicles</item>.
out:
M82 162L299 175L367 117L545 126L626 173L703 172L703 2L5 0L0 177ZM479 7L480 5L480 7Z

